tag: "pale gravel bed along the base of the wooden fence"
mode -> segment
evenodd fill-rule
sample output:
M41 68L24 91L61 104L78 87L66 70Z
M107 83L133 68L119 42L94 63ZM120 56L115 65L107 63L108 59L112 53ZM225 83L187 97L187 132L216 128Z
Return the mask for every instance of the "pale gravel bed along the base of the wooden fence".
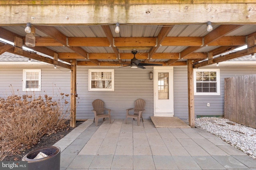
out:
M200 117L195 123L256 159L256 129L217 117Z

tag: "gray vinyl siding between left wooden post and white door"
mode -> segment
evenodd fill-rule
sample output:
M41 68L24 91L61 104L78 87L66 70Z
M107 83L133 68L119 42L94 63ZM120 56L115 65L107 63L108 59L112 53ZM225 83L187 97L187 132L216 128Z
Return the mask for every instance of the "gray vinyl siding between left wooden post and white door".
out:
M134 101L141 98L146 101L144 119L150 119L153 115L153 80L149 80L149 72L153 68L131 69L114 68L114 91L88 91L88 70L104 69L77 68L77 93L78 106L76 108L76 119L92 119L92 101L100 99L104 107L111 109L113 119L124 119L126 109L134 107ZM112 69L112 68L105 68Z

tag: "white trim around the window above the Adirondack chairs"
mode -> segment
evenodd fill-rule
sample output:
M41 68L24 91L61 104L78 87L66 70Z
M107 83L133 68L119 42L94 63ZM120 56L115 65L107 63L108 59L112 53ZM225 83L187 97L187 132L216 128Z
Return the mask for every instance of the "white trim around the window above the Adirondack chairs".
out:
M111 72L112 88L92 88L92 72ZM89 91L114 91L114 69L89 69Z

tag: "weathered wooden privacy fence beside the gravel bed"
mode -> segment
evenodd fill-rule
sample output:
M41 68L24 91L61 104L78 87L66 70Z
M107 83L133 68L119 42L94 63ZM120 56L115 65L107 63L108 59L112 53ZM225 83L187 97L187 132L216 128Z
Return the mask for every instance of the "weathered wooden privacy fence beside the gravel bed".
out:
M256 75L224 79L224 118L256 128Z

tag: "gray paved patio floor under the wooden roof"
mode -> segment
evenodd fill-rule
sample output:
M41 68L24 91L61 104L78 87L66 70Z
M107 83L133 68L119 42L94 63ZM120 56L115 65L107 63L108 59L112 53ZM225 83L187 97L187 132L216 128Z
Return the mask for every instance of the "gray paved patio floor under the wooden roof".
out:
M200 128L155 128L150 119L88 119L54 146L61 170L256 170L256 160Z

